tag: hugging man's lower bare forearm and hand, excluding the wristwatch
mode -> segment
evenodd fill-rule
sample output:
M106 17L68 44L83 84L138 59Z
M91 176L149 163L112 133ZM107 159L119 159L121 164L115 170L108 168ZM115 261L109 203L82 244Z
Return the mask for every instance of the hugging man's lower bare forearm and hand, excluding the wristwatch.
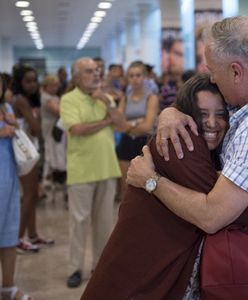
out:
M155 173L147 146L143 153L143 157L132 160L127 173L127 183L141 188ZM233 222L248 206L248 193L223 175L207 195L182 187L165 177L158 181L154 194L176 215L208 233Z

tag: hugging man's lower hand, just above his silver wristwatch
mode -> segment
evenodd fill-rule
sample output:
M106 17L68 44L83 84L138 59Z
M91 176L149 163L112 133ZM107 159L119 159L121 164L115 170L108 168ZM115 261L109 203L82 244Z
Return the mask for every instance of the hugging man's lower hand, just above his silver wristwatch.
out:
M139 188L144 188L146 180L155 175L154 163L149 147L144 146L142 151L144 156L136 156L131 160L126 179L128 184Z

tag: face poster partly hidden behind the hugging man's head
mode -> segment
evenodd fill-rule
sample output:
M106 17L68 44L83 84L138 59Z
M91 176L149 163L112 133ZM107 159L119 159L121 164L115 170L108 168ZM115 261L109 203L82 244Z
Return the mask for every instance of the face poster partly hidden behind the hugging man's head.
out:
M195 10L195 65L198 72L207 71L203 31L223 18L222 10Z

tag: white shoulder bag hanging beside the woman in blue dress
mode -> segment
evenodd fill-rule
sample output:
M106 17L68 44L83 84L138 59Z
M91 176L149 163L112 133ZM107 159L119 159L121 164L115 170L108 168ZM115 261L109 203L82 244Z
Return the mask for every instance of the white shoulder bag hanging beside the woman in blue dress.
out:
M30 138L22 129L15 130L12 143L18 175L27 175L38 162L40 155Z

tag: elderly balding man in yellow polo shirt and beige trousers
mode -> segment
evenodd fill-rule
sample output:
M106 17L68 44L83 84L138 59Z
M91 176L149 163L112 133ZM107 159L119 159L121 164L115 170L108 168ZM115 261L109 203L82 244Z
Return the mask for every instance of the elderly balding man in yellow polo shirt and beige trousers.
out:
M76 87L62 97L60 107L68 131L70 288L82 282L91 218L93 268L105 246L113 226L116 179L121 176L111 126L118 111L99 88L97 65L90 58L81 58L72 72Z

